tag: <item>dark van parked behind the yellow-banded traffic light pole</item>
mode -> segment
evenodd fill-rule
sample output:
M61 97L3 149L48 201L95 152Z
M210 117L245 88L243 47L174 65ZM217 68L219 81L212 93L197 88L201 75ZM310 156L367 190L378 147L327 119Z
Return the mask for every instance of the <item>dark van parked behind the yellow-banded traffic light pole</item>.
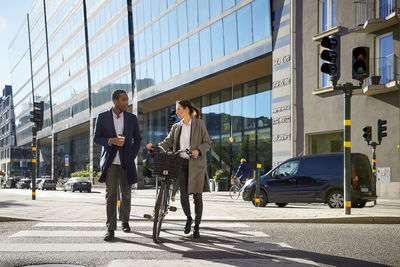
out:
M368 157L351 154L352 207L363 208L376 200L374 179ZM261 176L260 206L276 203L327 203L331 208L343 208L343 153L317 154L291 158ZM255 180L243 188L243 199L253 201Z

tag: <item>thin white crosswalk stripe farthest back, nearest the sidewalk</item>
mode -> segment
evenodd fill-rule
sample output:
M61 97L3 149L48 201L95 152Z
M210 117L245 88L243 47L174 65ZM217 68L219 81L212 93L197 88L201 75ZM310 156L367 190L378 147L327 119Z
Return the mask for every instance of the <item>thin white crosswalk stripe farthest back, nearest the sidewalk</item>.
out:
M132 228L134 227L153 227L153 222L130 222L129 223ZM105 227L105 223L82 223L82 222L42 222L34 225L33 227ZM185 226L185 223L181 222L163 222L163 228L181 228ZM248 228L249 226L244 223L211 223L211 222L203 222L201 228Z

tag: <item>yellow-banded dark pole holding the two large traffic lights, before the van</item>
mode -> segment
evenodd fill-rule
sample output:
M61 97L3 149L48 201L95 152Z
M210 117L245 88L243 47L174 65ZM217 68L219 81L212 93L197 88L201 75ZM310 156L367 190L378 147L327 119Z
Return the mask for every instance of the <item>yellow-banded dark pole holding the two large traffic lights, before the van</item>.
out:
M351 214L351 96L353 85L344 85L344 208Z

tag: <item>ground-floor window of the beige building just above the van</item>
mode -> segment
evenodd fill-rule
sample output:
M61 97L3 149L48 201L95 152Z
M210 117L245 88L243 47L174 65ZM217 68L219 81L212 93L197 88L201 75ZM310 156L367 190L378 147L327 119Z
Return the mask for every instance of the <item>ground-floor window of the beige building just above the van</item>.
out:
M343 152L343 131L310 134L307 138L308 154Z

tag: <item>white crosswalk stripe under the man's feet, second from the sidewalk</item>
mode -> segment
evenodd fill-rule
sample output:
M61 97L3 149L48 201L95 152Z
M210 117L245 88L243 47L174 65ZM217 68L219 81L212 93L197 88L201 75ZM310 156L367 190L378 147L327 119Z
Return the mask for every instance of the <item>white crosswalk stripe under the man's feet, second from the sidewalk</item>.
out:
M151 237L153 231L133 231L131 233L117 232L118 237ZM269 237L263 232L257 231L212 231L201 230L202 236L208 237ZM14 237L103 237L104 231L20 231L11 236ZM182 231L161 231L160 237L181 237L187 236Z

